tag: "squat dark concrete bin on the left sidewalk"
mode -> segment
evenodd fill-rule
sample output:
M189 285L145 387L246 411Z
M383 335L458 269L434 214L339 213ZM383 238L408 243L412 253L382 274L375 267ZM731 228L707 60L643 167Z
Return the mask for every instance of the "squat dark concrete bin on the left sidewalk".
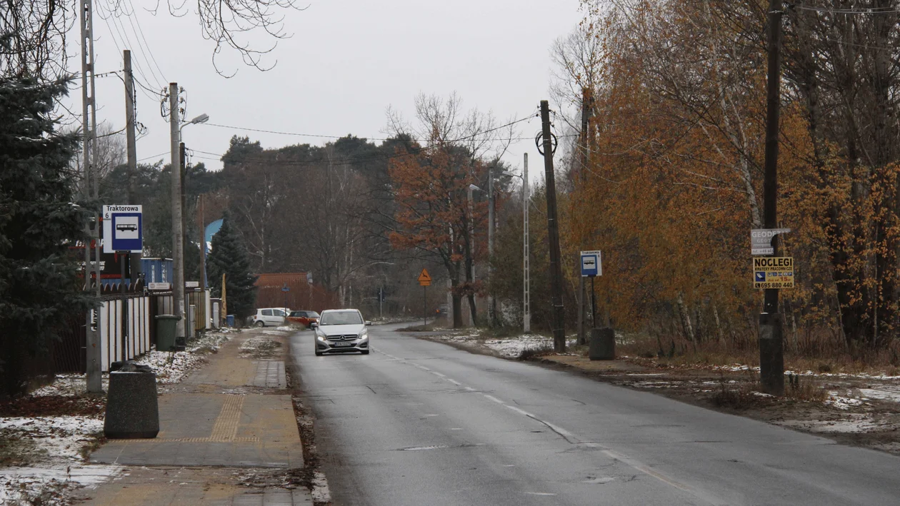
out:
M159 433L157 375L146 366L113 363L106 395L103 435L108 439L153 439Z

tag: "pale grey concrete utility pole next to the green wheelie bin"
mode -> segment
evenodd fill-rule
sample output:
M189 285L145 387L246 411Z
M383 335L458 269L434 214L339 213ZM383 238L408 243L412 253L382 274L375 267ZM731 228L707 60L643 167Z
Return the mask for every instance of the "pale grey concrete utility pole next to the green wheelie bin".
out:
M172 293L175 315L181 316L175 327L175 337L187 338L184 332L187 317L184 312L184 228L181 208L181 154L178 131L178 84L169 83L169 136L172 150Z

